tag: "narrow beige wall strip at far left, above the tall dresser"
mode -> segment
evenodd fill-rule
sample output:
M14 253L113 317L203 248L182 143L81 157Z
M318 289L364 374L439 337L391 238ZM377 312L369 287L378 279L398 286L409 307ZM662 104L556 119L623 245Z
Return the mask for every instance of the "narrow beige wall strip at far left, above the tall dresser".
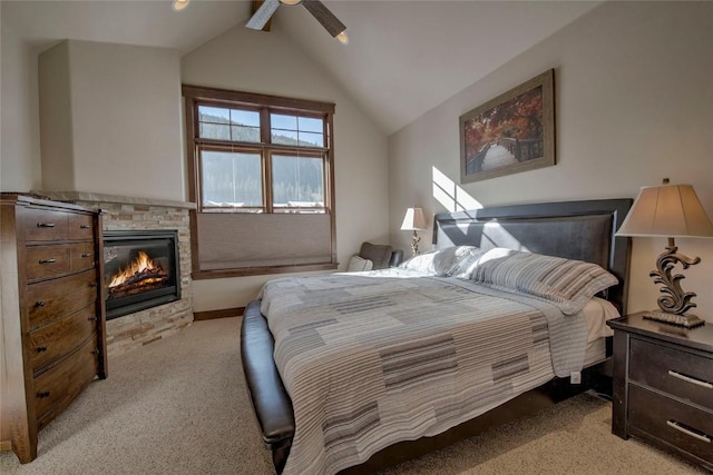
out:
M2 23L0 190L27 191L41 181L37 55Z

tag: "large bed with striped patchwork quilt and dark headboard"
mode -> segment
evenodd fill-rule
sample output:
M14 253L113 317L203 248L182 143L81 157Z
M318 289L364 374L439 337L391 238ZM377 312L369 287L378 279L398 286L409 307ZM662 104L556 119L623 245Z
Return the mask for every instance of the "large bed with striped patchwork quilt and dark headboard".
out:
M625 313L631 204L439 214L436 249L402 268L268 281L241 353L275 471L374 472L606 392L609 338L586 315ZM566 285L543 286L551 269Z

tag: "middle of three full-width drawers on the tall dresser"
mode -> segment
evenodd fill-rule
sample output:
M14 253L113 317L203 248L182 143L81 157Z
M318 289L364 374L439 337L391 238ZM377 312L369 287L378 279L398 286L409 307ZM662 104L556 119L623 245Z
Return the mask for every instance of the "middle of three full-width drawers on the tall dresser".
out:
M61 359L77 349L97 328L95 306L89 306L61 320L30 333L30 364L32 373Z

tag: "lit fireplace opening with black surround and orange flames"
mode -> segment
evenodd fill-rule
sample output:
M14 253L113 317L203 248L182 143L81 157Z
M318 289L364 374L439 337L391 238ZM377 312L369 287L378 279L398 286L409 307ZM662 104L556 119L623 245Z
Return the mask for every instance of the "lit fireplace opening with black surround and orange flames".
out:
M176 230L104 231L107 320L180 298Z

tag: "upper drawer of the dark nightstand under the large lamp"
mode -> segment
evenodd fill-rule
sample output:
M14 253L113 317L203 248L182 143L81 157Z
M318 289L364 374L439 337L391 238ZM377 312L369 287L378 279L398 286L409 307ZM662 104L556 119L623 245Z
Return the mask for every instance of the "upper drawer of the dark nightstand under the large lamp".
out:
M629 360L631 380L713 410L713 358L632 338Z

